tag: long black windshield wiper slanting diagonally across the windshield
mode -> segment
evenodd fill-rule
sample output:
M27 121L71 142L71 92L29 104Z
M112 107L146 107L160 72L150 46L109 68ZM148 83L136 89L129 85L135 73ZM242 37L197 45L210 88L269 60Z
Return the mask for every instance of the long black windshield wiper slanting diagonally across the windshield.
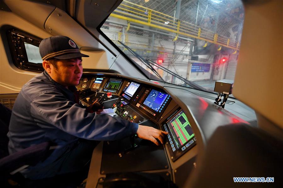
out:
M152 61L151 59L144 59L142 56L140 56L139 54L137 54L135 51L133 51L129 46L125 45L124 43L122 43L121 41L118 40L118 42L123 45L125 48L127 48L127 50L129 50L134 56L136 56L136 58L138 58L142 63L144 63L150 70L152 70L156 75L158 75L158 77L163 81L164 79L158 74L158 72L152 67L152 65L162 69L163 71L171 74L172 76L175 76L176 78L182 80L184 83L188 84L189 86L191 86L194 89L199 89L199 90L203 90L203 91L207 91L207 89L205 89L204 87L193 83L192 81L187 80L186 78L181 77L180 75L170 71L169 69L159 65L158 63ZM168 82L165 82L168 83Z

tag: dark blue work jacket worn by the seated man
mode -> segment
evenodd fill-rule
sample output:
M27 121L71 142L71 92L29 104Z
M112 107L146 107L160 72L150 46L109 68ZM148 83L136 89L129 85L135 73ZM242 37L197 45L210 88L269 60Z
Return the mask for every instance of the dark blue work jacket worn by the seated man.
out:
M75 86L70 88L76 90ZM57 149L43 162L21 171L26 177L33 168L56 161L79 138L106 141L135 134L138 124L107 114L88 113L75 103L74 93L55 82L47 72L32 78L20 91L9 125L9 153L51 141Z

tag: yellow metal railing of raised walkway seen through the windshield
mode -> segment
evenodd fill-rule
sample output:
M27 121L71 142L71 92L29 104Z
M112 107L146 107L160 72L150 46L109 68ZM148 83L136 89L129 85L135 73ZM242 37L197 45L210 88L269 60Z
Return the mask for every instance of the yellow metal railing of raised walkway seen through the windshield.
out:
M229 37L218 35L211 30L207 30L183 20L178 20L175 17L126 0L124 0L119 7L110 14L110 16L158 28L160 30L170 31L176 34L176 37L173 40L177 40L179 35L183 35L214 43L219 46L225 46L234 49L235 52L239 50L239 42L231 41Z

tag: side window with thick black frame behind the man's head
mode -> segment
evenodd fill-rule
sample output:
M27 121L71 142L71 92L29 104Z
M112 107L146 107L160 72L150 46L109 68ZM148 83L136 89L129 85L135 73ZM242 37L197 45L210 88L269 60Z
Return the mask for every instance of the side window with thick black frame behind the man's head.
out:
M43 72L39 44L42 40L17 29L7 31L8 43L14 65L22 70Z

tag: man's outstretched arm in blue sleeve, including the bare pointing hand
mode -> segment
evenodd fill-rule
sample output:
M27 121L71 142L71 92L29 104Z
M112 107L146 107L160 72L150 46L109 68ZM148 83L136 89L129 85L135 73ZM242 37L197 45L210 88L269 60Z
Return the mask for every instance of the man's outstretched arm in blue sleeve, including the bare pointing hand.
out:
M117 140L132 134L163 143L164 134L153 127L137 125L130 121L107 114L88 113L85 108L74 104L63 94L50 91L37 96L31 102L31 114L38 121L56 126L64 132L89 140Z

